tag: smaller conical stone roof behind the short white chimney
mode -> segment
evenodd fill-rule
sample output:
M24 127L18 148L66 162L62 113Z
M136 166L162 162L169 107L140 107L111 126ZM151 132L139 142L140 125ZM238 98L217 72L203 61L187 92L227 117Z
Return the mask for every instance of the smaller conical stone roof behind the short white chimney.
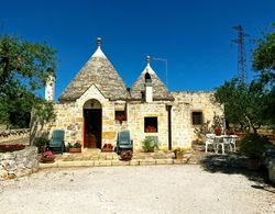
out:
M147 60L147 66L142 71L140 77L134 82L132 89L130 90L130 99L142 100L142 93L144 93L145 91L145 75L147 72L150 74L152 79L153 100L173 101L174 97L169 93L167 87L162 82L162 80L157 77L156 72L152 69L148 60Z

